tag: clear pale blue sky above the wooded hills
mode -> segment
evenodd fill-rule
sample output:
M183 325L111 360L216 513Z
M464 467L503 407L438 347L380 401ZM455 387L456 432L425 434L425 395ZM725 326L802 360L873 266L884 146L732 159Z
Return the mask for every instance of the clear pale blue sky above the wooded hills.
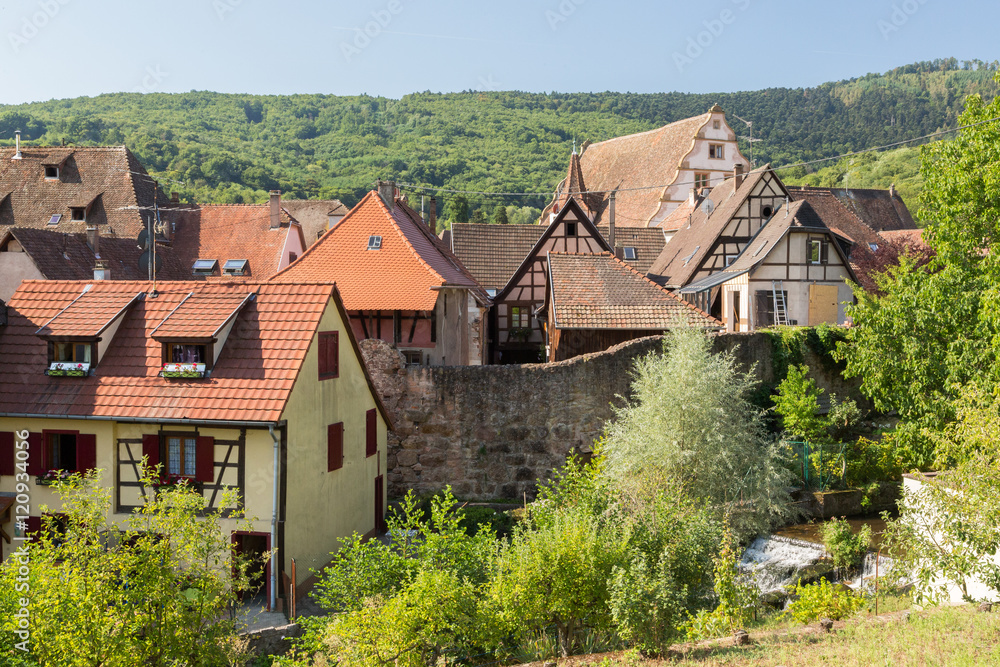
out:
M998 60L998 24L1000 3L969 0L0 0L0 104L798 88Z

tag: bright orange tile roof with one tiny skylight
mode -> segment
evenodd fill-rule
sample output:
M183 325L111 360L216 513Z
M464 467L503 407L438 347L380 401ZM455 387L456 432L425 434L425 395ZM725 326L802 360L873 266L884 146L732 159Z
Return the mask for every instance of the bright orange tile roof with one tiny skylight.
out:
M381 246L369 250L369 239ZM350 310L433 310L442 286L464 287L486 302L472 274L420 214L396 201L390 212L369 192L298 261L275 276L281 282L336 281Z

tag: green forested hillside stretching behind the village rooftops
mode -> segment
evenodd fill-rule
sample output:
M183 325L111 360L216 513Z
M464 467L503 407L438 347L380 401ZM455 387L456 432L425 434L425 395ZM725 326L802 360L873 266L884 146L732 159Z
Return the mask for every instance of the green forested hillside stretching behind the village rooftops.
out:
M600 141L704 113L738 134L753 122L757 164L828 157L954 127L967 95L992 98L997 63L924 62L816 88L718 94L465 92L368 96L120 93L0 106L0 139L125 144L166 190L202 202L294 198L353 204L376 178L504 192L551 191L574 139ZM747 144L744 141L744 153ZM801 174L800 174L801 175ZM180 185L175 182L182 182ZM480 200L489 214L544 197Z

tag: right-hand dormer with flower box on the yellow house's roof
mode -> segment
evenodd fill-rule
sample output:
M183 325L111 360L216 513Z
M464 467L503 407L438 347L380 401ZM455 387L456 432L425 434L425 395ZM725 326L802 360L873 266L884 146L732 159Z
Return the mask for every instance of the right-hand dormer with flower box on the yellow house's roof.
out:
M210 375L236 317L254 297L253 292L190 292L151 334L161 345L160 374L167 378Z

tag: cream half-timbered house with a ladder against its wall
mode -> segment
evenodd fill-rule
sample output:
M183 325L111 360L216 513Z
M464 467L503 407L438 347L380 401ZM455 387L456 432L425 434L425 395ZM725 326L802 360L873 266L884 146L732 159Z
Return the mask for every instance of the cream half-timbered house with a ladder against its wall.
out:
M695 305L719 304L726 331L776 324L843 324L856 282L844 241L809 202L776 210L725 268L679 293ZM714 296L716 295L716 296Z

